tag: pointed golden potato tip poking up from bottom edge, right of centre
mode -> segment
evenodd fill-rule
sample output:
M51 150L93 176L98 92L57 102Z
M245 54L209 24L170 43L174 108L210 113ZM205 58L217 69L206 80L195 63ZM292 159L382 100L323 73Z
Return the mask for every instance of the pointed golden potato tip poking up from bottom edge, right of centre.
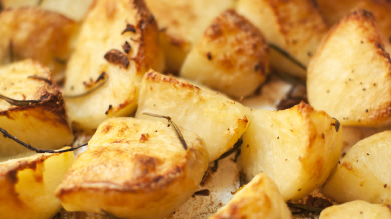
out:
M277 185L265 173L257 174L209 219L291 218Z

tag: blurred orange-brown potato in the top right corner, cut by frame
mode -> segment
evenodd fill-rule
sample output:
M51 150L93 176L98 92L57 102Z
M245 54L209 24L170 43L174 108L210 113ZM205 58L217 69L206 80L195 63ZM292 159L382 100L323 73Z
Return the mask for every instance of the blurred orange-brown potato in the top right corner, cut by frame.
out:
M372 12L378 28L386 40L391 37L391 2L387 0L317 0L320 13L331 26L351 10L362 8Z

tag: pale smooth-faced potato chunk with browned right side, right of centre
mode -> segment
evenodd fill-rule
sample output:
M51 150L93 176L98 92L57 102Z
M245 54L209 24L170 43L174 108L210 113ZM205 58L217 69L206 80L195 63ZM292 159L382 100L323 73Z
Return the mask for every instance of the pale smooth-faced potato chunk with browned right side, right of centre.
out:
M264 171L285 200L320 186L338 161L342 130L324 111L301 102L292 108L254 110L243 135L242 171L247 180Z

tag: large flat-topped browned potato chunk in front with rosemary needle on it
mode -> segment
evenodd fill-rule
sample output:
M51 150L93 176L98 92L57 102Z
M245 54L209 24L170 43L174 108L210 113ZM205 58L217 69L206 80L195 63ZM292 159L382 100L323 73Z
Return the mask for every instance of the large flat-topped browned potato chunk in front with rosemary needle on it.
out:
M167 122L132 117L99 125L56 194L66 210L162 218L189 198L208 168L204 140Z

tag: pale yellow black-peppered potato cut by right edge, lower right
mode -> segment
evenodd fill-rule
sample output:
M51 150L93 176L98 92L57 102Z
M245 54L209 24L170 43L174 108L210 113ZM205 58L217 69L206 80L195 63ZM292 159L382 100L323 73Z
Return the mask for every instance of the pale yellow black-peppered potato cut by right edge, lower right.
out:
M323 193L338 202L355 199L391 204L391 131L382 131L354 144L338 162Z

